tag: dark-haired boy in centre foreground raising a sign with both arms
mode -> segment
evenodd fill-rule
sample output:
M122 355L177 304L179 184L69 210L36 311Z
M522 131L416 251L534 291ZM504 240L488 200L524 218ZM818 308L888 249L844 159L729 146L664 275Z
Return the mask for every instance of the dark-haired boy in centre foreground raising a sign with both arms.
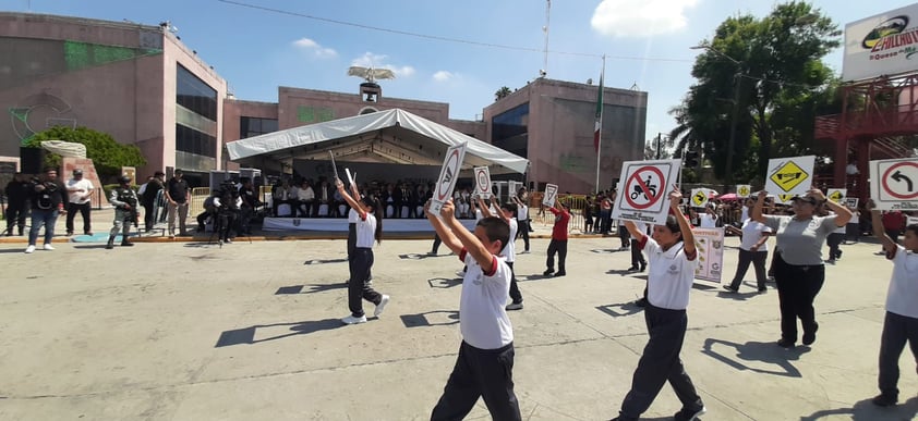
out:
M462 344L432 420L461 420L483 397L495 420L520 420L514 393L514 326L504 310L511 271L497 255L510 242L510 226L496 216L482 218L470 233L456 219L452 200L439 209L440 221L425 207L443 244L469 270L462 280L459 331Z

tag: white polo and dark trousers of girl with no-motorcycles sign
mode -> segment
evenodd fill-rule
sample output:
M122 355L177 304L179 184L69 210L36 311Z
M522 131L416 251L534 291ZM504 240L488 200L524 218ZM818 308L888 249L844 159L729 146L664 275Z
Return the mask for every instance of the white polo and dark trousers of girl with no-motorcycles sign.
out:
M686 308L698 264L697 252L686 253L683 243L664 250L649 236L638 245L647 253L650 268L644 307L650 339L635 370L631 389L621 403L619 419L637 420L666 382L681 401L683 412L697 413L704 405L679 358L688 326Z

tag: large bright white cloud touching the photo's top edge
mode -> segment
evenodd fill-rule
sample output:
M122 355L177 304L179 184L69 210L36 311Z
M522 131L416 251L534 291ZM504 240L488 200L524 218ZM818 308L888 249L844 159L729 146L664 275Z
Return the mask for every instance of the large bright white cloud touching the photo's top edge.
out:
M642 38L675 33L688 24L686 10L699 0L603 0L590 25L603 35Z

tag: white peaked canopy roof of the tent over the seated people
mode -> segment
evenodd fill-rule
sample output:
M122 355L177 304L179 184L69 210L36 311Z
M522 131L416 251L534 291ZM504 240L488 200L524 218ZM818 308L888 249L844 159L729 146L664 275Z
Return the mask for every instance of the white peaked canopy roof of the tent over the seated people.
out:
M440 165L447 148L463 141L463 170L490 166L495 174L522 174L529 166L526 158L400 109L235 140L227 150L232 161L263 169L270 161L292 165L294 159L327 160L329 150L341 161Z

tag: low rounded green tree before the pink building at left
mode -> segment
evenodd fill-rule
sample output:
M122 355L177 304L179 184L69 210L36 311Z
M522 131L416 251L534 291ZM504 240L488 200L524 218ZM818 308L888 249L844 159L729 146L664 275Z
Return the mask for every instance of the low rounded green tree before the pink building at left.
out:
M86 146L86 158L93 160L99 178L112 179L121 175L122 166L143 166L146 164L141 150L135 145L122 145L110 135L92 128L55 126L36 133L23 146L40 148L43 140L64 140ZM56 153L45 156L45 165L60 166L61 157Z

